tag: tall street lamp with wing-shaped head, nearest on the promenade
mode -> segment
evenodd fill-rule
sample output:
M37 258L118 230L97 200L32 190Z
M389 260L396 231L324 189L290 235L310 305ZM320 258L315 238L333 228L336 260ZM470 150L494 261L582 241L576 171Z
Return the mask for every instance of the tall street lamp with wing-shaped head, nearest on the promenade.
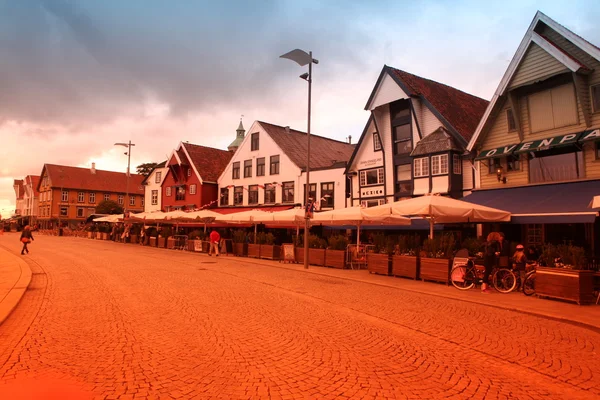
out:
M308 204L308 193L310 192L310 100L312 89L312 65L318 64L319 60L312 58L312 51L308 53L304 50L295 49L285 53L279 58L287 58L296 62L301 67L308 64L308 73L303 73L300 78L308 82L308 129L306 132L306 189L304 190L304 207L306 207L306 215L304 217L304 268L308 269L308 230L310 228L310 216L308 208L312 205Z

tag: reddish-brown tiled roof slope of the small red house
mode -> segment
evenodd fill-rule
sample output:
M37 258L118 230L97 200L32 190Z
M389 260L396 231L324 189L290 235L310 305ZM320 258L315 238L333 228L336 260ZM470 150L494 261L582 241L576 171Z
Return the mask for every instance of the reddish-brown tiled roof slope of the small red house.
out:
M189 155L189 160L196 169L203 182L216 183L219 175L229 164L233 152L199 146L197 144L182 143L182 148ZM187 159L188 157L185 157Z

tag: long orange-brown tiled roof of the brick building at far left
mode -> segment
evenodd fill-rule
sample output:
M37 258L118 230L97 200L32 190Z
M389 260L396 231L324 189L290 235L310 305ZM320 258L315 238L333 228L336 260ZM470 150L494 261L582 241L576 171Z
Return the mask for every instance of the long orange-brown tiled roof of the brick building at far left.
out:
M95 170L90 168L71 167L67 165L44 164L53 188L89 190L96 192L127 192L127 174L124 172ZM129 193L144 194L143 175L131 174L129 178ZM39 190L39 182L37 190Z

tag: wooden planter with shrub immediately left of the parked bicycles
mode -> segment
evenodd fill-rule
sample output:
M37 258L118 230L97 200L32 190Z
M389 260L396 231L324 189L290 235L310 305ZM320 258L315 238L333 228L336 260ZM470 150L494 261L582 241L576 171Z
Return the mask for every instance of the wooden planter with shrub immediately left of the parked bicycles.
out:
M426 239L419 259L420 279L448 284L454 245L454 236L449 233Z

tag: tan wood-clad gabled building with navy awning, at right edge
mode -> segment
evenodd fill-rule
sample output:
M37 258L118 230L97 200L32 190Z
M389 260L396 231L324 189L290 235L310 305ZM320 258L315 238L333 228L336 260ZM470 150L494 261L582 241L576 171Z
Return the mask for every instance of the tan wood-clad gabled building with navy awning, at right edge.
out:
M511 211L525 245L592 252L600 193L600 48L538 12L469 143L479 189L466 199Z

